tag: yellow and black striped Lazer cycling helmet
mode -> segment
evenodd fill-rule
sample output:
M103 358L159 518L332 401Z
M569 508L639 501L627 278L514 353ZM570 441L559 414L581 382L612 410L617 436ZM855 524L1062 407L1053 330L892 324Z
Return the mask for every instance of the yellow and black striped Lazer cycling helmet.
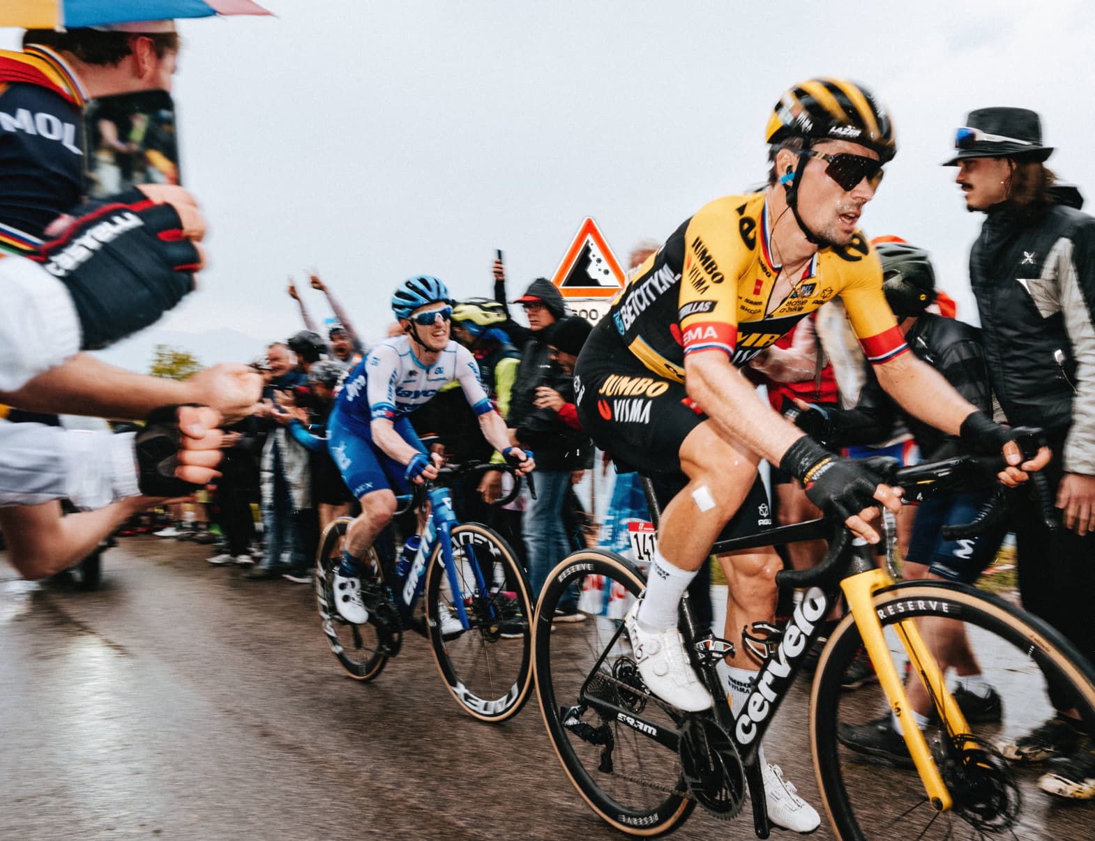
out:
M793 137L849 140L874 149L883 163L897 153L886 108L862 84L844 79L810 79L784 92L769 117L764 139L779 146Z

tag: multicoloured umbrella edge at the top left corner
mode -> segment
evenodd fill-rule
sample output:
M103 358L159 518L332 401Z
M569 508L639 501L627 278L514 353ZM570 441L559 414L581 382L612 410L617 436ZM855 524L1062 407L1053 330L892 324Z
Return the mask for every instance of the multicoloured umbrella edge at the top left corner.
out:
M0 26L61 30L111 23L269 14L251 0L0 0Z

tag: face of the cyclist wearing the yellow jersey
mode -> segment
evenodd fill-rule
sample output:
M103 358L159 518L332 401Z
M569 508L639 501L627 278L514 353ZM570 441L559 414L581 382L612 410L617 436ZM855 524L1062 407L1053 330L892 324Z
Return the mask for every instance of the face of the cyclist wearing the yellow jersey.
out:
M814 150L878 160L878 152L848 140L825 140L815 143ZM821 160L802 158L798 168L798 215L819 237L846 245L860 224L863 206L875 197L875 188L863 178L851 189L844 189L826 173L826 162Z

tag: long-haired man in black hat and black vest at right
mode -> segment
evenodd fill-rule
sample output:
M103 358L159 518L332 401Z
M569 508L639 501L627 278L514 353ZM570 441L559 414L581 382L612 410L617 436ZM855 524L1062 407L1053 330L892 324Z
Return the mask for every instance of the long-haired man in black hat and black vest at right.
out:
M1044 473L1065 528L1047 529L1029 496L1013 499L1023 604L1095 660L1095 219L1054 191L1052 151L1035 112L980 108L944 165L958 168L966 208L986 214L969 274L992 390L1007 424L1042 427L1053 450ZM1051 701L1054 717L1001 751L1063 757L1039 787L1095 798L1091 735L1067 698Z

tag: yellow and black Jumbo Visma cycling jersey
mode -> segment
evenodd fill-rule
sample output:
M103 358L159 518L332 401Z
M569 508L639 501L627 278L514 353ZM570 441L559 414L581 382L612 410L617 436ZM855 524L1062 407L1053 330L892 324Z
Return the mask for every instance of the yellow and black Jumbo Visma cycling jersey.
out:
M860 231L815 254L777 301L771 226L763 193L705 205L639 267L607 321L647 368L679 382L687 355L725 353L741 367L838 295L871 362L908 349L883 295L878 256Z

